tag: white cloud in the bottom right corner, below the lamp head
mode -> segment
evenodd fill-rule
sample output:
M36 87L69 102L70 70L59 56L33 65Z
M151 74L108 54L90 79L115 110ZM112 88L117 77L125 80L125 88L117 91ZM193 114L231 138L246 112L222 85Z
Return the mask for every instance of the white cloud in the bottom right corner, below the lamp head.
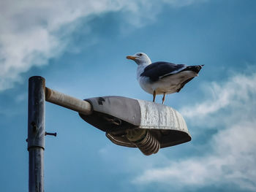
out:
M137 184L176 183L178 188L187 185L234 184L247 190L256 190L255 123L232 126L220 131L212 141L214 153L192 157L169 166L148 169L134 180Z

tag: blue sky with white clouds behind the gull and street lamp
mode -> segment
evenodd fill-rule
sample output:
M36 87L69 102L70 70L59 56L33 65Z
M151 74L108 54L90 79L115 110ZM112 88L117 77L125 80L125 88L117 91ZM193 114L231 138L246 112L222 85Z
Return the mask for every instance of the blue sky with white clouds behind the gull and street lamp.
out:
M165 101L192 141L144 156L47 103L46 131L58 136L45 138L45 191L256 191L255 9L253 0L1 1L1 191L28 191L29 77L79 99L151 101L125 58L138 51L205 64Z

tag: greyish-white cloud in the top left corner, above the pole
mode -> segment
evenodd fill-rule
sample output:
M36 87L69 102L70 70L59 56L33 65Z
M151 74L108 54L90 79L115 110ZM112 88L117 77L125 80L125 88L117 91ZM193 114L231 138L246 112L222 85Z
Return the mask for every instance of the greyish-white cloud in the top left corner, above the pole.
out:
M188 0L166 2L178 7L190 4ZM0 91L12 88L31 66L47 64L49 58L63 53L80 18L121 11L128 23L143 26L142 20L154 19L159 4L146 0L1 1Z

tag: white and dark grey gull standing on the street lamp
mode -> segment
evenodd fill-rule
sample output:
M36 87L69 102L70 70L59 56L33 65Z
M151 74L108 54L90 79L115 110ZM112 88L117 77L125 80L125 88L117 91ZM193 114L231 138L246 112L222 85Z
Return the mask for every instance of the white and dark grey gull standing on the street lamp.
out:
M153 95L153 102L157 95L162 94L162 104L165 95L178 93L187 82L198 75L204 65L187 66L185 64L172 64L165 61L151 63L146 53L135 53L128 55L138 64L137 80L144 91Z

